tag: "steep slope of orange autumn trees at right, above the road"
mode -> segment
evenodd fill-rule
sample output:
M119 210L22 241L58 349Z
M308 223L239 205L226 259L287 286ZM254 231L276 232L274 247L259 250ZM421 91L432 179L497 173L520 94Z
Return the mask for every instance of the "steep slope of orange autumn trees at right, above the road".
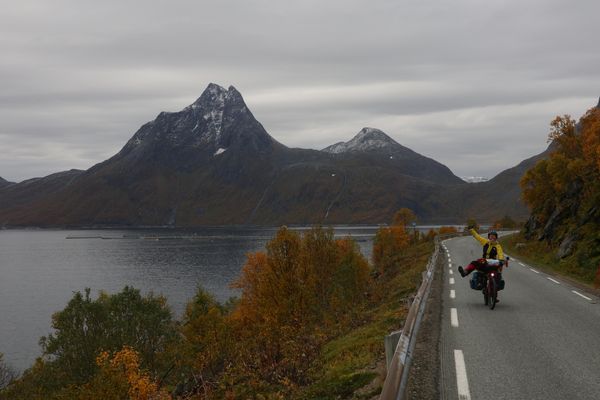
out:
M566 272L600 284L600 108L551 123L551 151L524 175L525 239L543 243Z

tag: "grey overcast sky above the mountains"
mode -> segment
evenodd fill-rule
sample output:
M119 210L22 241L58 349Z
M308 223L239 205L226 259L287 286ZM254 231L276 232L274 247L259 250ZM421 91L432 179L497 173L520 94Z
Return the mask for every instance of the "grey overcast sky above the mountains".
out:
M597 0L0 0L0 176L87 169L235 86L290 147L365 126L492 177L600 95Z

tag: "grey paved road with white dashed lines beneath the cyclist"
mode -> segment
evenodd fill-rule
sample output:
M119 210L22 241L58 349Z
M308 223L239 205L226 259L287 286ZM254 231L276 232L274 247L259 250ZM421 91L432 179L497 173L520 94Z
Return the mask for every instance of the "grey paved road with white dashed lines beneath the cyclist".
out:
M490 310L457 270L480 245L471 237L443 245L443 399L600 399L598 298L512 260Z

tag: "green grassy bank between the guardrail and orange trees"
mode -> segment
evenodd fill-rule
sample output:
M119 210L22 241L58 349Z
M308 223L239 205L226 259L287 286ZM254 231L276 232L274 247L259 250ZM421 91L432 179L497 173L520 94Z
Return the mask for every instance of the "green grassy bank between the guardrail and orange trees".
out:
M397 271L376 280L360 322L325 344L311 371L312 384L302 388L297 399L371 399L381 392L386 373L384 337L402 327L432 252L431 242L412 246Z

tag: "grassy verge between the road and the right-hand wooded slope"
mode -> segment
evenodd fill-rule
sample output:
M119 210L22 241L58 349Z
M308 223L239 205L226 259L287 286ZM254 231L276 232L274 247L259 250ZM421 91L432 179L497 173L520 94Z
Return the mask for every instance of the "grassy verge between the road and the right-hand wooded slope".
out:
M559 260L556 256L556 249L549 246L545 241L528 241L519 232L502 237L501 244L507 253L518 257L531 266L547 273L573 279L575 282L593 289L594 271L582 269L573 256Z

